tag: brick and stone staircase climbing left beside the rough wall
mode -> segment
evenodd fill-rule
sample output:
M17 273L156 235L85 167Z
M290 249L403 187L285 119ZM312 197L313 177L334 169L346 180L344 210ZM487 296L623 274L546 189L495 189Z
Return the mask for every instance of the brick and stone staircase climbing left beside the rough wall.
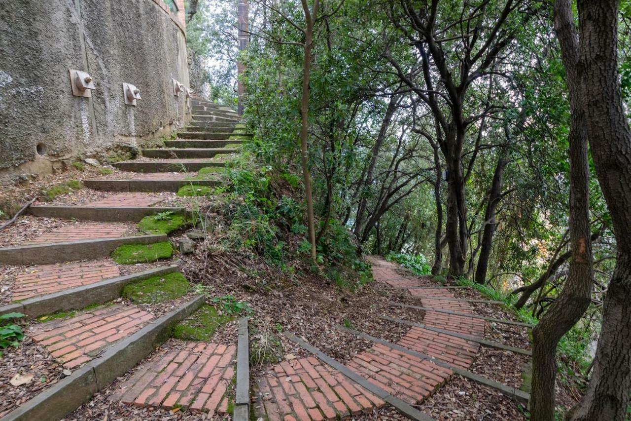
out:
M162 306L172 309L168 312L121 300L124 286L167 276L179 267L168 260L124 265L110 258L122 245L157 247L168 242L167 235L140 232L133 223L161 212L189 212L186 206L160 202L174 198L182 186L220 185L220 174L198 177L198 171L223 167L225 158L238 154L249 136L234 111L198 98L191 102L193 120L177 139L142 149L133 161L117 162L119 171L83 180L85 188L105 192L105 197L80 205L36 202L28 209L30 216L20 218L68 224L0 247L0 269L7 269L5 276L13 285L0 301L0 315L25 314L25 334L48 351L66 375L28 400L3 402L3 420L61 419L147 357L151 365L128 381L132 389L125 393L127 386L122 386L112 399L140 407L190 406L208 417L228 412L237 338L227 344L182 345L186 355L174 354L173 346L165 344L167 352L163 343L172 327L205 298L188 288L186 295ZM247 360L247 346L245 353ZM189 370L191 365L195 372Z

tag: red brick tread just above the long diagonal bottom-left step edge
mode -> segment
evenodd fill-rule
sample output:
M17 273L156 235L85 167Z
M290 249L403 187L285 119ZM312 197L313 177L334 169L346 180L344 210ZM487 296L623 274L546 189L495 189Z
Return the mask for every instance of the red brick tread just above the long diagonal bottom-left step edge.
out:
M146 325L153 315L117 304L98 307L68 319L35 324L31 336L67 369L96 357L110 344Z

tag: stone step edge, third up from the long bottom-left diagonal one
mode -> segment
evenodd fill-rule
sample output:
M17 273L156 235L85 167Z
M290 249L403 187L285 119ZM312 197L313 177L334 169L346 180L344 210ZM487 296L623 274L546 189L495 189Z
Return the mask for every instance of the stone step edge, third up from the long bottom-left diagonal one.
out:
M164 234L150 234L3 247L0 248L0 264L45 265L75 260L91 260L97 257L109 257L115 248L124 244L144 245L167 240L168 237Z

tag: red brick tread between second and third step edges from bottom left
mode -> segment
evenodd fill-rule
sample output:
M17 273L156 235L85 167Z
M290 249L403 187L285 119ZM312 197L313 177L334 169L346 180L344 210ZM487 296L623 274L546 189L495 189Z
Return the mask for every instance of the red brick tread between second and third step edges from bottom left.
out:
M16 276L13 301L93 284L120 274L118 266L109 260L31 267Z

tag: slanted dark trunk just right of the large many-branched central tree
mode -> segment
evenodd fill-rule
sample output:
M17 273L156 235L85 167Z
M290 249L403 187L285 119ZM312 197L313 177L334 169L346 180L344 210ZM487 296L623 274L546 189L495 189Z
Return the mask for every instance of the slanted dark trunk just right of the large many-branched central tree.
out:
M508 148L504 148L500 152L497 166L495 166L495 173L493 173L493 182L491 183L487 209L484 212L485 225L482 234L480 257L478 258L478 265L475 270L475 281L478 284L484 284L487 281L488 257L491 255L493 235L495 234L495 228L497 228L497 223L495 223L495 210L497 210L497 204L500 202L500 198L502 198L502 176L504 175L504 168L506 168L509 162L508 152Z

